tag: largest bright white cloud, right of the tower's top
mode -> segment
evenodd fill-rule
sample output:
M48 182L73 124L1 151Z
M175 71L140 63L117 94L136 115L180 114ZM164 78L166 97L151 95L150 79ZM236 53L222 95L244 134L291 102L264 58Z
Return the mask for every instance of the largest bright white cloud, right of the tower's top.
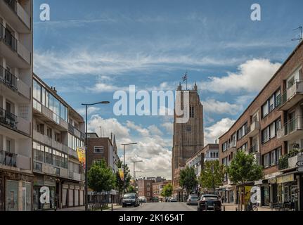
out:
M238 72L228 72L225 77L209 77L210 81L201 82L203 90L217 93L257 92L273 77L281 67L280 63L271 63L268 59L247 60L239 65Z

